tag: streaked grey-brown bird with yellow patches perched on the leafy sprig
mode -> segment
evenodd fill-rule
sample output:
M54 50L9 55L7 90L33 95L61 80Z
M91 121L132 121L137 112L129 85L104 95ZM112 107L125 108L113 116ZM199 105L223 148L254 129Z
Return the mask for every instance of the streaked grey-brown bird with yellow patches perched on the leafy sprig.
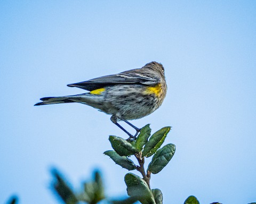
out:
M140 129L127 120L142 118L153 113L163 103L167 89L164 67L157 62L150 62L140 69L67 86L82 88L90 92L73 96L41 98L43 102L35 106L73 102L92 106L112 115L110 120L129 135L128 140L136 139ZM124 121L132 126L136 134L132 135L126 131L117 121Z

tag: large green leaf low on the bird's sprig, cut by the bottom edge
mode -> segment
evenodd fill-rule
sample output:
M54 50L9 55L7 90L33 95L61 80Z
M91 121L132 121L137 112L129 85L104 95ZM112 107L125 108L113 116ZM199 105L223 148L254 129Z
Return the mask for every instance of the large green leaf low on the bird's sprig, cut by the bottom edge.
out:
M138 197L138 200L142 204L156 204L153 194L148 188L148 184L141 177L128 173L125 175L124 181L129 196Z

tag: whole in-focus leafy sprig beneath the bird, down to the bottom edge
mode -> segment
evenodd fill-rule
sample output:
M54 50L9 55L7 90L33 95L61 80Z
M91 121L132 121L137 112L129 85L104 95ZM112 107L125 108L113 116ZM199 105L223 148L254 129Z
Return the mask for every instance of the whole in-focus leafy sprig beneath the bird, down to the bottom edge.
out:
M167 144L161 148L163 142L171 130L170 126L164 127L151 135L149 124L144 126L137 140L126 141L113 135L109 136L109 141L114 150L105 151L116 164L129 171L137 169L142 174L138 175L127 173L124 177L127 186L127 194L133 203L139 200L142 204L162 204L163 194L159 189L150 189L150 175L157 174L170 162L175 152L175 145ZM134 155L138 160L136 165L129 157ZM145 172L145 158L153 156ZM121 203L121 201L119 201ZM126 202L128 200L126 199Z

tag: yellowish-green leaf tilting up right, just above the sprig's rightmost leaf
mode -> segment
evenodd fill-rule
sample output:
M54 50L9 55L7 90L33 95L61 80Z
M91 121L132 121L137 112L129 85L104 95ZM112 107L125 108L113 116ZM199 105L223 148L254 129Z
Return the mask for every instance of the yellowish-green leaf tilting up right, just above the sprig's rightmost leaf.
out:
M170 130L171 130L171 127L165 127L155 132L146 143L142 151L142 157L152 156L156 152L156 150L159 147L161 147L161 145L163 144L166 138L166 135L169 133Z

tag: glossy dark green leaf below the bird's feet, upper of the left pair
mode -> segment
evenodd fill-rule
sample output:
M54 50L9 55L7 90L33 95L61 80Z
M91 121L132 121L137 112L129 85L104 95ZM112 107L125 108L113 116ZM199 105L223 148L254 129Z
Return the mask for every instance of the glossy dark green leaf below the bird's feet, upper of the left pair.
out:
M109 136L109 141L113 149L120 156L130 156L138 153L139 151L132 146L132 144L123 138L119 138L113 135Z

